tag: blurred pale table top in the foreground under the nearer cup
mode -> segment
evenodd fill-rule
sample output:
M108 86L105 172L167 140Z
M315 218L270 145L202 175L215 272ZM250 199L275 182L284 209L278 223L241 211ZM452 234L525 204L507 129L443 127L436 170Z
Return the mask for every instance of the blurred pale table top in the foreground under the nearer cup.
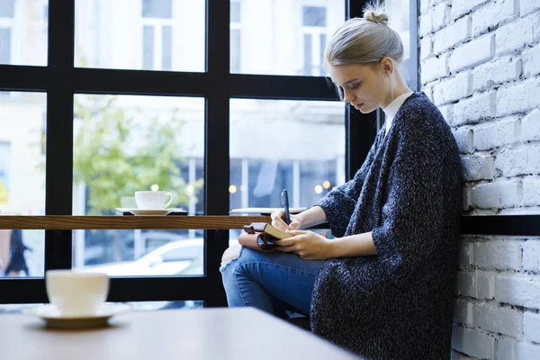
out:
M0 356L40 360L358 359L254 308L135 311L103 329L47 329L23 314L0 315Z

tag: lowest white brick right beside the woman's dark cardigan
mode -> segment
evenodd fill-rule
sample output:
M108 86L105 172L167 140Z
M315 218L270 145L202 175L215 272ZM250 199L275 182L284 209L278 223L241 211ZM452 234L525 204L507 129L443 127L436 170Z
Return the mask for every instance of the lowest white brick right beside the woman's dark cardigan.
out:
M466 355L481 359L492 359L495 356L495 338L474 329L454 326L452 347Z

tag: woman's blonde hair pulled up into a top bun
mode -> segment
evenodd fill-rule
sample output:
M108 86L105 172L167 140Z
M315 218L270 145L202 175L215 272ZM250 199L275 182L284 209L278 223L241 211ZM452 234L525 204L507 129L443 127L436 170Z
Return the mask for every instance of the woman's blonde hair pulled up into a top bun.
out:
M363 18L341 25L325 50L329 65L369 64L382 58L392 58L400 65L403 43L398 32L388 26L388 15L378 1L365 6Z

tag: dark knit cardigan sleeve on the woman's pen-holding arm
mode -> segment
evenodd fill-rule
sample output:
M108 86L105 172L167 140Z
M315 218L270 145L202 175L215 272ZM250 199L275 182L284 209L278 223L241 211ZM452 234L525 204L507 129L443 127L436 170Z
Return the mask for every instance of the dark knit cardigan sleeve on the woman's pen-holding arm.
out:
M347 230L351 215L356 208L356 202L360 197L365 175L371 166L377 150L381 132L375 138L374 144L370 148L364 164L358 169L353 179L347 181L329 193L327 193L315 206L320 206L329 220L329 228L332 235L342 237Z

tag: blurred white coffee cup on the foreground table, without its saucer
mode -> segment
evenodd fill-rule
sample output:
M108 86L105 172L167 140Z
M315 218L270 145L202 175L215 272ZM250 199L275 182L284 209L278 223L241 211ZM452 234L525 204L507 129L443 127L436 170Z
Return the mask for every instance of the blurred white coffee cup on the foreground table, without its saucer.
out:
M101 273L48 270L45 287L49 302L56 306L61 316L92 316L107 300L109 277Z

